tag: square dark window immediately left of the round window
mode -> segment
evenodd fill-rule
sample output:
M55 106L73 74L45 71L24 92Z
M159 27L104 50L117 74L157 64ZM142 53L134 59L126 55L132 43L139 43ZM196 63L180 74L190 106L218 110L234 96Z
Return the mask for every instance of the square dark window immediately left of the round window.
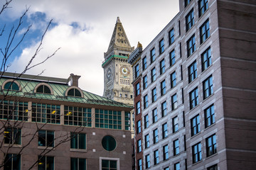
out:
M70 133L70 148L71 149L86 149L86 134L85 133Z

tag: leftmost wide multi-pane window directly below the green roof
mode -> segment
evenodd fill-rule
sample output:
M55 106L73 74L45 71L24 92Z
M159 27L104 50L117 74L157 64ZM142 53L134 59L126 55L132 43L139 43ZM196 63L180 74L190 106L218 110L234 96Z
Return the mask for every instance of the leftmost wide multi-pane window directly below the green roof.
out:
M28 102L0 101L0 119L28 120Z

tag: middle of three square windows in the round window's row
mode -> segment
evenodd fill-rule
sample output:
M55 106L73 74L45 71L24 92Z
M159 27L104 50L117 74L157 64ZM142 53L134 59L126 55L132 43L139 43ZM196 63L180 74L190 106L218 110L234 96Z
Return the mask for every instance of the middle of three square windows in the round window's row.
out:
M54 147L54 132L48 130L38 131L38 146Z

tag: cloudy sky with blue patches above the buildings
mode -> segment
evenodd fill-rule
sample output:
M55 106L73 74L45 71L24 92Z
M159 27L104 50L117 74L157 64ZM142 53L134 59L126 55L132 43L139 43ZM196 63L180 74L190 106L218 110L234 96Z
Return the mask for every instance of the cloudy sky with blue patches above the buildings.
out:
M4 0L0 1L0 6ZM4 49L12 26L26 8L21 28L14 42L21 40L31 25L21 45L11 54L7 72L22 72L40 43L48 22L53 19L40 52L33 64L43 61L55 50L56 54L43 64L33 67L26 74L68 79L71 73L80 75L79 86L85 91L102 96L104 71L101 67L104 52L110 44L114 25L119 16L132 46L138 41L149 45L158 33L178 13L178 0L14 0L11 8L0 15L0 48ZM2 55L0 55L2 57Z

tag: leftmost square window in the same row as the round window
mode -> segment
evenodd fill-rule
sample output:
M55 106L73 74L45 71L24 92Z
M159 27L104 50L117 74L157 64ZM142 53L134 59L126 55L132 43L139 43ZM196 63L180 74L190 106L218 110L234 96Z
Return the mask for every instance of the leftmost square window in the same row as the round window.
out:
M6 128L4 130L4 143L9 145L21 145L21 129Z

